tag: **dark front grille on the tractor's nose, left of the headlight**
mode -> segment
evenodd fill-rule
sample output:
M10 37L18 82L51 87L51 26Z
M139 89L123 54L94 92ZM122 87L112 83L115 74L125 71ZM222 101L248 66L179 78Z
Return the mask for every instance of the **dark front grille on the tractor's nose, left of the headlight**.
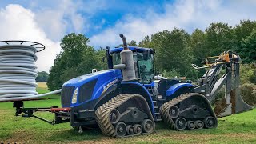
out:
M74 88L74 86L62 87L62 106L70 106Z

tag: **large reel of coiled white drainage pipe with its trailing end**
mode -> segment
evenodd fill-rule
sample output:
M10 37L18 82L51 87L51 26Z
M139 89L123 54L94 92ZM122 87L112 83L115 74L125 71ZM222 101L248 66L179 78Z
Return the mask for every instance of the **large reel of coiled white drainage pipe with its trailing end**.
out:
M0 102L27 100L61 92L55 90L38 94L36 91L38 86L35 81L38 75L35 66L38 59L36 53L44 50L45 46L28 41L1 42L5 45L0 45ZM17 45L10 42L20 43Z

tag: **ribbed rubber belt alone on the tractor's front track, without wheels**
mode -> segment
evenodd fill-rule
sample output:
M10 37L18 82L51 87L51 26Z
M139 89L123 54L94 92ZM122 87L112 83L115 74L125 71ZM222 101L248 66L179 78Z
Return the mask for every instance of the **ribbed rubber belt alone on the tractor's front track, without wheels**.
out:
M102 106L99 106L98 109L95 112L95 119L98 123L98 126L102 130L103 134L106 134L111 137L117 137L115 134L115 128L110 122L110 112L117 108L118 106L122 105L122 103L126 102L130 98L134 97L141 97L139 94L119 94L118 96L110 99L110 101L104 103ZM143 98L145 100L145 98ZM145 100L146 102L146 100ZM148 110L150 112L150 108L148 107ZM154 118L150 112L150 119L154 122ZM135 134L134 134L135 135Z

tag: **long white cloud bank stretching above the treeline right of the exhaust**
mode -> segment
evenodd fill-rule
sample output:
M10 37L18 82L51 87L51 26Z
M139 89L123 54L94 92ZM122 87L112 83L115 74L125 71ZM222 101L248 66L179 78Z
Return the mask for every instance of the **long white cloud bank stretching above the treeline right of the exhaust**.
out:
M166 4L164 13L148 10L144 16L128 14L102 33L90 38L90 44L118 46L122 43L119 33L126 35L127 41L141 41L146 35L162 30L173 30L174 26L192 32L195 28L206 29L211 22L228 22L230 26L242 19L256 19L255 1L183 0ZM102 41L104 39L104 41Z

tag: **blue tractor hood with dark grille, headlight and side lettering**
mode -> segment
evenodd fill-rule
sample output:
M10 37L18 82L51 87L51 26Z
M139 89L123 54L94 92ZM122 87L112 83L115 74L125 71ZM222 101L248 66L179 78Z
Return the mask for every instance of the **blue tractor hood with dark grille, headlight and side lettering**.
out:
M121 70L114 69L102 70L70 79L62 86L62 107L79 106L84 102L99 98L111 86L121 81ZM71 103L76 90L77 100Z

